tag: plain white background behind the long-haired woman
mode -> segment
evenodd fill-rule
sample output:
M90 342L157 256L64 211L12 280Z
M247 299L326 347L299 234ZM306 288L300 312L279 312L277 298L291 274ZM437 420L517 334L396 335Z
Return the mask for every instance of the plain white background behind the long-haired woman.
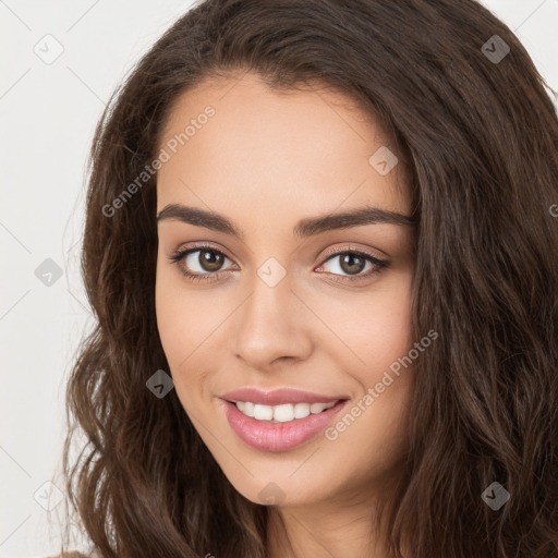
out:
M48 513L38 501L49 505L44 483L63 488L65 381L92 325L78 268L88 149L114 87L191 3L0 0L2 558L60 550L63 505ZM483 3L557 90L558 0ZM51 64L34 51L47 34L63 47ZM35 276L46 258L63 270L50 287Z

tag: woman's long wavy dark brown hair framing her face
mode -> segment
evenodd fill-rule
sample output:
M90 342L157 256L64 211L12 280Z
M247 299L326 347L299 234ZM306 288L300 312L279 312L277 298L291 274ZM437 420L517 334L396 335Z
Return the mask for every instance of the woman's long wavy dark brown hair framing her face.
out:
M268 509L229 483L174 390L146 388L169 371L157 173L122 197L178 97L248 70L277 90L322 83L357 99L408 155L413 332L439 337L416 362L393 556L404 542L413 558L556 556L558 119L518 38L473 0L205 0L114 93L92 147L82 254L97 325L66 393L63 470L90 542L104 557L265 557ZM494 482L510 494L498 510L482 498Z

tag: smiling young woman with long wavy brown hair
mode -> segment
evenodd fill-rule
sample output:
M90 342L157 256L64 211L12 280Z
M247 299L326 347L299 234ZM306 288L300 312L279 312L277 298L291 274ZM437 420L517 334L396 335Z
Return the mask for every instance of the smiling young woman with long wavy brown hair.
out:
M97 556L557 555L544 85L473 0L206 0L157 41L92 150Z

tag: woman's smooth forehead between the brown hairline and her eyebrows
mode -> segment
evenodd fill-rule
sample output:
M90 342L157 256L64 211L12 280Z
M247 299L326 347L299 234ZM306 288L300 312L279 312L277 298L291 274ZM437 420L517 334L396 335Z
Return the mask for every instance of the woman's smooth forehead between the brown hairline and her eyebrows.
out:
M367 203L409 215L402 165L381 175L369 161L386 145L397 155L372 116L339 92L279 92L252 73L211 78L179 97L166 122L157 210L257 205L267 218L294 218L298 208L303 216Z

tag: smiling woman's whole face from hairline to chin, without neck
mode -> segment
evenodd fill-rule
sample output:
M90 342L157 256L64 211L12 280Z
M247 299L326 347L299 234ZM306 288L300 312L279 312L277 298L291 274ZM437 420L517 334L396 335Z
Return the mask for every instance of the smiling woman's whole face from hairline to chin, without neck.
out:
M184 94L163 132L157 322L199 436L257 504L385 486L413 386L395 147L343 95L276 93L251 73Z

